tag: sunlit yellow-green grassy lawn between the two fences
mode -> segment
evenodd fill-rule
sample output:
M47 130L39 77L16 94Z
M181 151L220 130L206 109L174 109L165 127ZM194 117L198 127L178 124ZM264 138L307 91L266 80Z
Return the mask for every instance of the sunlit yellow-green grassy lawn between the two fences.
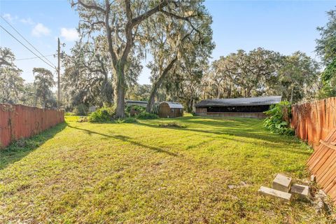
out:
M307 202L258 195L277 173L307 179L312 152L262 120L68 119L26 144L0 152L0 223L328 223Z

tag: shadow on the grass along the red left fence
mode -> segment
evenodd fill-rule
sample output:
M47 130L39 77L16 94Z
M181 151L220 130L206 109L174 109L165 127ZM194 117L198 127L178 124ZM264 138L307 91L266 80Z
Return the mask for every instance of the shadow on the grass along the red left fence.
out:
M41 132L40 134L30 137L29 139L22 139L20 141L14 141L12 144L0 150L0 170L5 169L8 165L18 162L26 155L34 151L36 148L41 146L52 139L58 132L64 130L67 123L60 123L55 127Z

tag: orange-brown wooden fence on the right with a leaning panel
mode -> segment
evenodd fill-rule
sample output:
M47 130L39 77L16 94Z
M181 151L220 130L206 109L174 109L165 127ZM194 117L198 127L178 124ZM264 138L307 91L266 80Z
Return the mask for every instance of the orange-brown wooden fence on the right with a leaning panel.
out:
M314 147L307 165L336 204L336 97L292 106L290 125Z

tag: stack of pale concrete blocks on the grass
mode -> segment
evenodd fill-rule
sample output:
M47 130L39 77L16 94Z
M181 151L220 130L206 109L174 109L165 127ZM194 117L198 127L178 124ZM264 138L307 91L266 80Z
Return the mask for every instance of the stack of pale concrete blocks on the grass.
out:
M309 186L303 186L300 184L292 184L292 179L277 174L272 183L272 188L266 188L261 186L258 190L262 195L269 195L273 197L279 197L280 199L290 202L292 194L299 195L299 197L309 197Z

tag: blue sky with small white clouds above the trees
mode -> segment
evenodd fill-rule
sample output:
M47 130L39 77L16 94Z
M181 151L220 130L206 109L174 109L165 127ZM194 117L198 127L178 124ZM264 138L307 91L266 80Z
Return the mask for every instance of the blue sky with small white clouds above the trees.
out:
M208 0L205 4L214 20L216 48L211 60L237 49L258 47L286 55L301 50L318 59L314 53L315 39L318 38L316 27L325 25L328 20L325 11L335 8L336 1ZM77 38L78 15L66 0L0 0L0 14L43 55L55 54L57 37L66 43L66 52ZM0 24L19 37L2 19ZM2 29L0 45L12 49L17 59L35 57ZM54 57L48 59L57 64ZM18 60L16 64L27 81L34 79L31 72L34 67L48 68L39 59ZM145 68L139 83L150 83L148 77L149 71Z

